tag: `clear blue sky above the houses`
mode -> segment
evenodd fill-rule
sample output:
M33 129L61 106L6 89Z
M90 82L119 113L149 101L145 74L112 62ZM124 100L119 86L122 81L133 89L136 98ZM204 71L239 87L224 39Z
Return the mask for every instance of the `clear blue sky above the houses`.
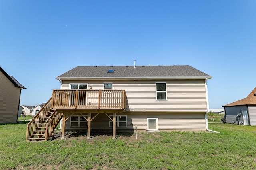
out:
M256 86L255 0L0 0L0 66L47 102L76 66L190 65L210 109Z

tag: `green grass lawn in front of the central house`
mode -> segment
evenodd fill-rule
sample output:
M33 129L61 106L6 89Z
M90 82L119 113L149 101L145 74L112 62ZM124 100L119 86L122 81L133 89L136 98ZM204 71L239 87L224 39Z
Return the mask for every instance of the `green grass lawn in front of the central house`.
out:
M209 129L220 133L25 142L26 124L0 125L0 169L256 169L256 127L209 124Z

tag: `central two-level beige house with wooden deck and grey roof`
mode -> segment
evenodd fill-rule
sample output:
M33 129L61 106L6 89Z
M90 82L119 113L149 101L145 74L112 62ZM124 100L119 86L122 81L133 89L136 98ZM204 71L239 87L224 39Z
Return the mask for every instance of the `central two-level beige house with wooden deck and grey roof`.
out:
M206 131L210 78L191 66L77 66L56 78L61 90L53 90L46 106L63 115L62 138L76 130L88 138L91 130L113 131L113 138L136 128Z

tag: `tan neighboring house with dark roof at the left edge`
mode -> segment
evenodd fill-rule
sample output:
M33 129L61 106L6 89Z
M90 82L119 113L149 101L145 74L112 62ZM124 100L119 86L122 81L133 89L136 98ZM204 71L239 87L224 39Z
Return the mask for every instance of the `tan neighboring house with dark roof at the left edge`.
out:
M0 67L0 124L16 123L20 106L22 86L14 77Z

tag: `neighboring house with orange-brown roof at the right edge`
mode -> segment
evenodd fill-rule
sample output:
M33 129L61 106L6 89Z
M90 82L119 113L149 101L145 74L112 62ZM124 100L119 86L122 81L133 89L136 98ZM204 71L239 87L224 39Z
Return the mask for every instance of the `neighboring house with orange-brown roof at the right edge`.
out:
M223 107L227 123L256 125L256 87L246 98Z

